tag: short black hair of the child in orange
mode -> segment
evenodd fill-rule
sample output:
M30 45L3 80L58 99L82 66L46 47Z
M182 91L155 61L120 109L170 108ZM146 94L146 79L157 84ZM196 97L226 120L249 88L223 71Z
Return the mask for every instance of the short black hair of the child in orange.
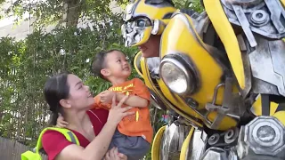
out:
M121 52L118 49L111 49L108 51L102 51L96 53L92 63L92 72L94 73L94 76L100 76L102 79L106 80L106 78L101 74L101 70L102 68L105 68L105 59L107 54L114 51Z

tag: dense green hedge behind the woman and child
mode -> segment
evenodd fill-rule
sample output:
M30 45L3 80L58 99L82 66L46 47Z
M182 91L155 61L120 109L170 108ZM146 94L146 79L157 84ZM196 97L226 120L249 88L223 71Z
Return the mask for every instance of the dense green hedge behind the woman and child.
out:
M1 136L35 144L38 131L48 120L42 93L48 76L69 70L90 85L94 94L110 86L92 76L90 68L96 52L122 45L116 29L119 22L112 19L114 29L108 25L100 31L56 28L51 33L37 30L20 42L6 37L0 40ZM134 48L123 51L131 58L137 52Z

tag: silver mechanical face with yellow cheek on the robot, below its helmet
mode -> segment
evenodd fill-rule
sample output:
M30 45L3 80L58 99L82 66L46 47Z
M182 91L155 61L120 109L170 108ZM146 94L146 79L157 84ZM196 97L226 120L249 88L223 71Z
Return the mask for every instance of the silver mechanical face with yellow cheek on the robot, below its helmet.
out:
M128 20L121 27L126 46L145 43L151 36L152 22L146 17Z

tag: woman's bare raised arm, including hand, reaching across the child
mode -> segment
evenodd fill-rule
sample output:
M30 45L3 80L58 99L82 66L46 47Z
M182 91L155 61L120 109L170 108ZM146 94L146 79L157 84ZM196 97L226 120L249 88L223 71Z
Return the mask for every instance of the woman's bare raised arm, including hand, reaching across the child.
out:
M116 106L116 97L112 100L112 107L109 112L107 123L102 128L102 131L95 137L94 140L86 148L77 145L69 145L61 150L61 153L56 156L56 160L102 160L107 152L112 136L117 128L118 123L125 116L133 115L134 112L126 112L131 107L121 108L121 105L126 101L127 96L120 100Z

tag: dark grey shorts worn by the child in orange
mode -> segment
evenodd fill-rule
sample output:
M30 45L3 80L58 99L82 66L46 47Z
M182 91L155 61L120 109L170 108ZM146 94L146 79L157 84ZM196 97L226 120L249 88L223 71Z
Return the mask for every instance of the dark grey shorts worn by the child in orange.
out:
M127 160L139 160L149 152L151 144L142 137L126 136L118 130L110 142L110 147L117 147L118 152L127 156Z

